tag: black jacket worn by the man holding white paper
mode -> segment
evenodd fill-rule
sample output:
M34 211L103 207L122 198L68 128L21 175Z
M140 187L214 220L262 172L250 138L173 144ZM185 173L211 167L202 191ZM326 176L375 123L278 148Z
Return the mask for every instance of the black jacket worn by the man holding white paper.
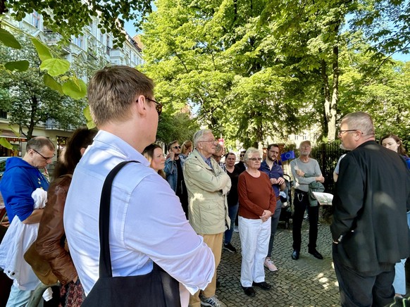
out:
M347 153L333 206L330 231L342 264L374 272L410 255L410 171L399 154L374 141Z

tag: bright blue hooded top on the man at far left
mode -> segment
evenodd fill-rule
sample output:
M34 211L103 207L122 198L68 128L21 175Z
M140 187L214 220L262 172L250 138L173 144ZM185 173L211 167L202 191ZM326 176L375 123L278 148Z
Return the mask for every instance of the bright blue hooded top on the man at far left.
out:
M34 199L31 194L37 188L49 189L49 182L39 169L22 158L8 158L0 192L10 223L15 215L23 222L32 214Z

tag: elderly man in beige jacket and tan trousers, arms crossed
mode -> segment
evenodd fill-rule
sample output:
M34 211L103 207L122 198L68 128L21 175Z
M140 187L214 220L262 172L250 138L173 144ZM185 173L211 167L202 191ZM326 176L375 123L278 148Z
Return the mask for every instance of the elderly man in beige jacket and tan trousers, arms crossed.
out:
M228 229L228 203L230 177L215 159L216 140L211 130L199 130L194 134L194 146L185 161L184 178L188 190L190 224L209 246L215 257L215 274L212 282L200 293L190 297L190 306L225 306L215 295L216 268L220 262L223 232Z

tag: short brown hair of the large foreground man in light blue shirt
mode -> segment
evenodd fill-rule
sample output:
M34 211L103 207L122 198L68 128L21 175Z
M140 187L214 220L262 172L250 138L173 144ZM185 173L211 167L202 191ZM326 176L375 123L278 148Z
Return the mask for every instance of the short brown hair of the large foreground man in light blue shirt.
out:
M127 120L137 95L153 97L154 82L135 68L115 65L97 71L88 85L89 110L94 123L99 127L111 120Z

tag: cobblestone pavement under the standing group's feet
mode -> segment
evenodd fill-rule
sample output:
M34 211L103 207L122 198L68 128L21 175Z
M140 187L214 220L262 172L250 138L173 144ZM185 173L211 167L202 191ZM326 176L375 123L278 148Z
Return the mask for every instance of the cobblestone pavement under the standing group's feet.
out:
M276 272L265 269L266 282L272 284L270 291L255 287L256 296L244 294L240 284L241 247L239 233L234 232L232 245L236 253L223 250L218 267L220 287L216 295L227 306L340 306L339 289L332 261L332 239L329 224L318 226L318 251L323 260L307 252L309 222L302 225L302 250L297 261L292 253L292 230L285 230L280 223L275 234L272 260L278 267Z

